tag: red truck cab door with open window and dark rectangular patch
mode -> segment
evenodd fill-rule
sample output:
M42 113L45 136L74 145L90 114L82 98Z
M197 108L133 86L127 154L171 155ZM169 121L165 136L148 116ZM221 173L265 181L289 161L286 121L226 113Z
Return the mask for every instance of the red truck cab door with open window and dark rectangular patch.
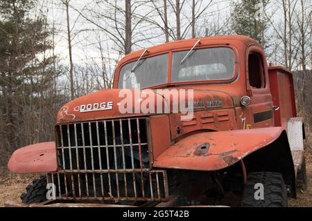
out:
M247 128L263 128L274 125L273 102L268 81L266 55L258 47L250 46L247 53L247 93L251 99Z

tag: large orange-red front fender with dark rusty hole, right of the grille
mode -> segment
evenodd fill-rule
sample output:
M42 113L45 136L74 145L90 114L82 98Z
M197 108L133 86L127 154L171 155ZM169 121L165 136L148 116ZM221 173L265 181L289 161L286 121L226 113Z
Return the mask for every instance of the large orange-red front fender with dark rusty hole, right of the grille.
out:
M277 140L281 127L205 132L180 140L154 162L158 168L218 171Z

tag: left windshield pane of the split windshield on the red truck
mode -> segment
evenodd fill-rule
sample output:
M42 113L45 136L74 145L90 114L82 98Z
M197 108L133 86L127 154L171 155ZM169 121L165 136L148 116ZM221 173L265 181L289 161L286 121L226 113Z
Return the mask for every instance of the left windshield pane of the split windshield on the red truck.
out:
M121 68L118 88L148 88L168 81L168 53L141 59L134 71L130 72L137 61Z

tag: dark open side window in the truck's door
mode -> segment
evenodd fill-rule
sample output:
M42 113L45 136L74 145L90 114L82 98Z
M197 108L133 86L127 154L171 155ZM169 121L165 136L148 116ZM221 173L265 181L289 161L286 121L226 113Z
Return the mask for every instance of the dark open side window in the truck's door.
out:
M251 52L248 56L248 75L249 84L252 88L265 88L266 75L264 73L263 61L261 56Z

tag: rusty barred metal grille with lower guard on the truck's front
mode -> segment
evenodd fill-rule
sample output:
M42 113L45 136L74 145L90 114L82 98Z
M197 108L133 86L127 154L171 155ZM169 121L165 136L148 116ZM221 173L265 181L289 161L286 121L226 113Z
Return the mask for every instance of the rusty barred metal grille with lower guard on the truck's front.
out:
M166 200L166 171L150 169L148 119L56 126L58 199Z

